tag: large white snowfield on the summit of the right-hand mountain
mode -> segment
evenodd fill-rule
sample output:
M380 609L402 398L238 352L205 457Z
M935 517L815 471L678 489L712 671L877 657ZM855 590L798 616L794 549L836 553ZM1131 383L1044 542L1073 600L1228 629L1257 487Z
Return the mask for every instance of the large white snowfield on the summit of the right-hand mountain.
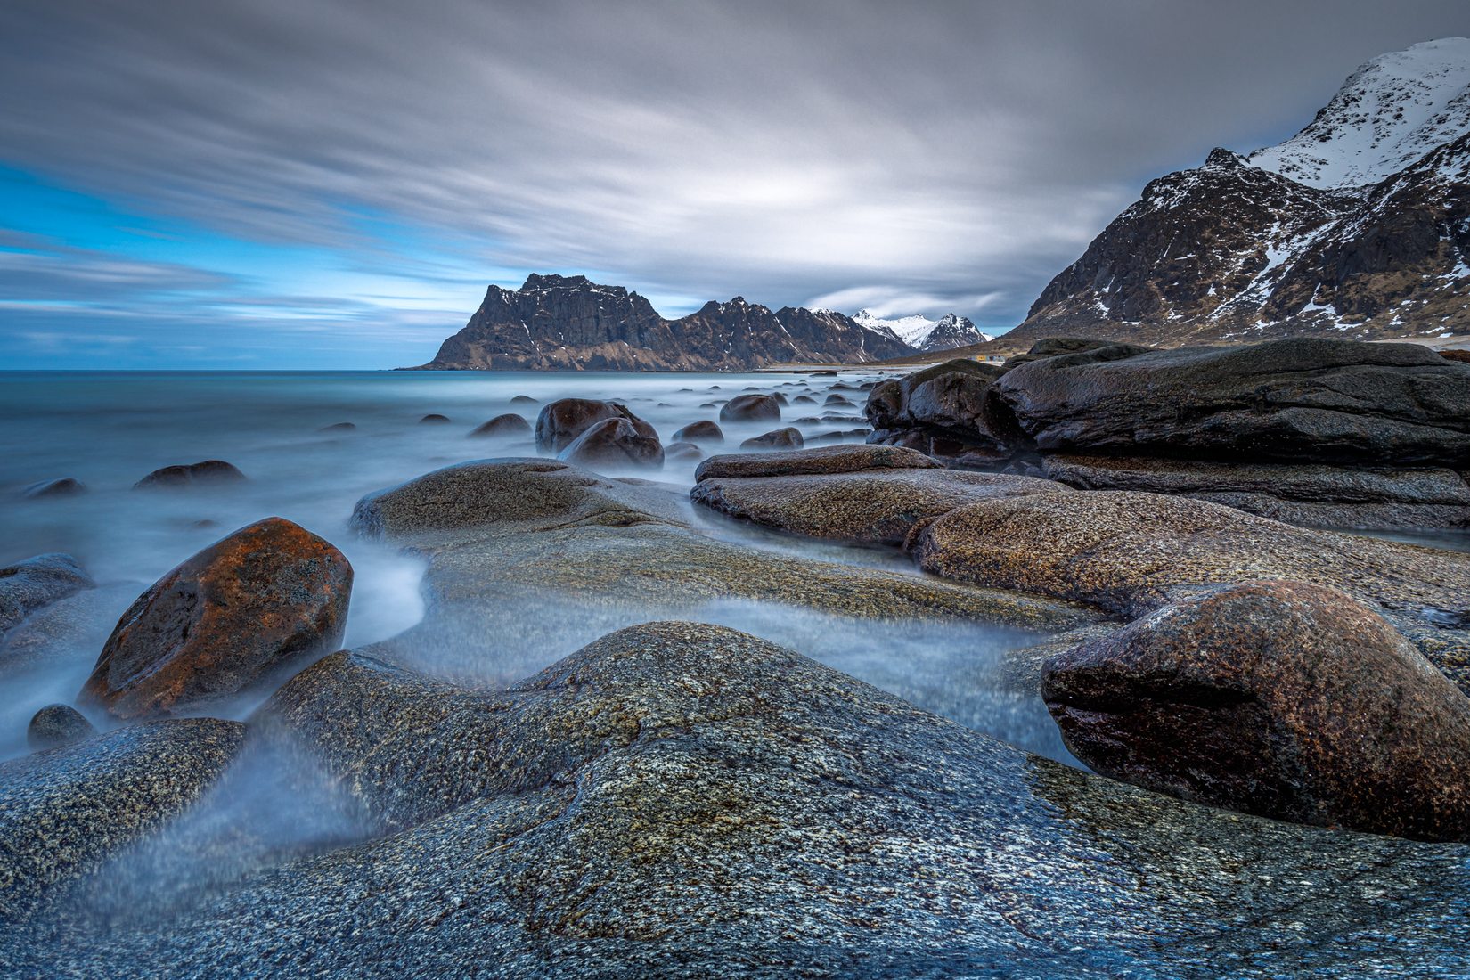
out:
M1470 132L1470 38L1380 54L1344 82L1291 140L1247 160L1301 184L1377 184L1435 147Z

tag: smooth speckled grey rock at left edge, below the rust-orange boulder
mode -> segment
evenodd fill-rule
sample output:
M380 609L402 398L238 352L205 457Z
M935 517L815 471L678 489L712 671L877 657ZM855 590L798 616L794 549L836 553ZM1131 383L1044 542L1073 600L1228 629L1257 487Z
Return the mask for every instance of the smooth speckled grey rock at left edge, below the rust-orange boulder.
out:
M238 721L176 718L0 763L0 921L182 813L243 738Z

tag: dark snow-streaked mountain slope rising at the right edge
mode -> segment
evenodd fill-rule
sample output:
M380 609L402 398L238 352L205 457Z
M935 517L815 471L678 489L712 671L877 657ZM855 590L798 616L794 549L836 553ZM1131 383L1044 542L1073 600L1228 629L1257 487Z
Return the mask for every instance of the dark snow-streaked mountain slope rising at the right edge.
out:
M1373 59L1291 140L1161 176L1005 339L1470 329L1470 40Z

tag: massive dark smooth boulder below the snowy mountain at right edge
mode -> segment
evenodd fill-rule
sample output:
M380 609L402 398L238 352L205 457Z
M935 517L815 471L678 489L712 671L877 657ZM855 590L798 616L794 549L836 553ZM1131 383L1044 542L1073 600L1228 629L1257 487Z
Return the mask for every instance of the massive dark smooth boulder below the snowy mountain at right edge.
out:
M1101 356L1108 351L1119 356ZM991 394L1042 453L1348 466L1470 460L1470 366L1419 344L1114 345L1022 364Z

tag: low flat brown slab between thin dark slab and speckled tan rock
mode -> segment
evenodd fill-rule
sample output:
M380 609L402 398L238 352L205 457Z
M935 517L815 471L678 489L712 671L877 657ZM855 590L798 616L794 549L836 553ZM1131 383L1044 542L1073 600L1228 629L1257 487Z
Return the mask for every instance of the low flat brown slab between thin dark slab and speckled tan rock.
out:
M789 476L707 476L689 491L689 498L729 517L788 533L901 545L914 527L956 507L994 497L1066 489L1061 483L1029 476L913 466Z

